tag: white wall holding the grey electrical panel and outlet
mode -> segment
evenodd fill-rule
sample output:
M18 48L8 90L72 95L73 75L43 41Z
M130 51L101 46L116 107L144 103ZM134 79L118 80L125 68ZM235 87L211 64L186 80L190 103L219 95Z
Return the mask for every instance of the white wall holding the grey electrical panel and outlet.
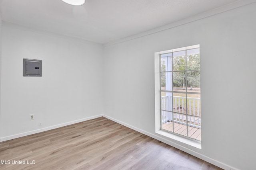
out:
M23 58L42 77L23 77ZM102 115L102 71L101 44L3 22L0 138Z

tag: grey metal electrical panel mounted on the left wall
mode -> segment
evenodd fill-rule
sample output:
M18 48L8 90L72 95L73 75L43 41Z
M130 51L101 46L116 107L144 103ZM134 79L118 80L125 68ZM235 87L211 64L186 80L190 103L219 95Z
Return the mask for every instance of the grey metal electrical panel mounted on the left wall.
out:
M42 60L23 59L23 76L42 76Z

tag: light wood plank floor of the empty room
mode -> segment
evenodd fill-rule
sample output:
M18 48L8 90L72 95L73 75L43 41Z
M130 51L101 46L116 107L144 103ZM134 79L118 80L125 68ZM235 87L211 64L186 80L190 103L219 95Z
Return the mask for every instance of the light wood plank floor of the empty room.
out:
M221 169L104 117L4 141L0 160L0 170Z

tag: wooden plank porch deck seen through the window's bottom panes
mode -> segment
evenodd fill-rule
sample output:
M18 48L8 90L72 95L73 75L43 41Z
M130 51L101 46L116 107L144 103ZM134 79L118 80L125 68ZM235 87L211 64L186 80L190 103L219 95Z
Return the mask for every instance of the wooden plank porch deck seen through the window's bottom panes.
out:
M172 125L172 123L174 123L174 126ZM174 127L174 131L173 131L173 127ZM162 124L162 129L187 136L186 125L183 125L180 123L168 121ZM201 141L201 129L188 126L188 137Z

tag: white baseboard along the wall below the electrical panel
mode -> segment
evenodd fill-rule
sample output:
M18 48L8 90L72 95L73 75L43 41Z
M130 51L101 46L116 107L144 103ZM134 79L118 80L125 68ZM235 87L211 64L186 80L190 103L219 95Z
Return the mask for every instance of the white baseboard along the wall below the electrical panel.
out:
M24 137L24 136L28 136L28 135L33 135L33 134L44 132L44 131L49 131L49 130L56 129L56 128L59 128L59 127L72 125L72 124L75 124L75 123L79 123L79 122L90 120L90 119L95 119L95 118L102 117L102 116L103 115L96 115L96 116L92 116L92 117L86 117L86 118L78 119L78 120L75 120L75 121L70 121L70 122L61 123L61 124L54 125L54 126L44 127L42 129L36 129L34 131L28 131L28 132L19 133L19 134L16 134L16 135L10 135L10 136L7 136L7 137L2 137L2 138L0 138L0 142L8 141L8 140L11 140L11 139L16 139L16 138Z

